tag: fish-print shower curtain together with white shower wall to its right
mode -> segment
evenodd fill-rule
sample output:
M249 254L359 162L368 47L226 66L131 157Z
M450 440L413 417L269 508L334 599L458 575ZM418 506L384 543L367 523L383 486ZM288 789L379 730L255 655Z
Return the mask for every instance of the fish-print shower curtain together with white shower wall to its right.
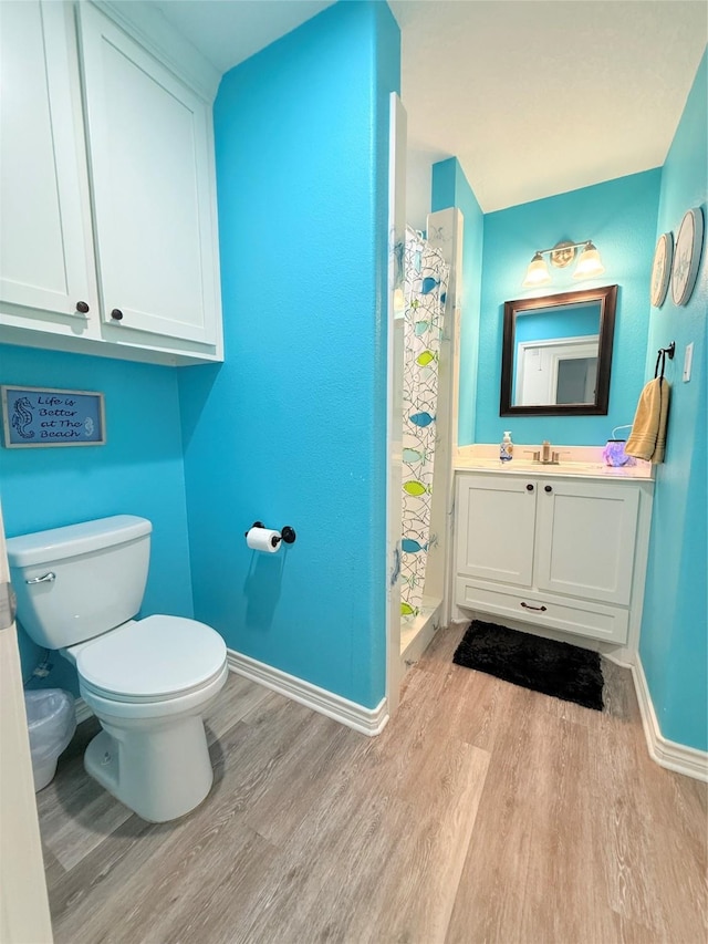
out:
M447 625L452 512L454 351L458 334L461 214L429 214L406 231L403 311L400 528L402 672Z

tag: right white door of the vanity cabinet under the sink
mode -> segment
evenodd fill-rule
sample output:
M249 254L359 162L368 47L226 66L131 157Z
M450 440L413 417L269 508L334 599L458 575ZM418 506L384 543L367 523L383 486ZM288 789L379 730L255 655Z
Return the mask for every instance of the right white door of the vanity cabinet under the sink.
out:
M535 585L626 605L639 495L632 486L539 484Z

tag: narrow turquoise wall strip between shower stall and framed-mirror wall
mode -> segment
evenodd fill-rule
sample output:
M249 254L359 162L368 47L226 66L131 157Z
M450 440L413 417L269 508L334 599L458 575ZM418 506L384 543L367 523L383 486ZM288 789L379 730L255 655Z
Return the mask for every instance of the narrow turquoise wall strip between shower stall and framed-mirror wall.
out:
M433 165L433 211L457 207L462 211L462 291L460 323L460 388L458 442L475 442L477 364L479 352L480 297L485 217L472 188L455 157Z

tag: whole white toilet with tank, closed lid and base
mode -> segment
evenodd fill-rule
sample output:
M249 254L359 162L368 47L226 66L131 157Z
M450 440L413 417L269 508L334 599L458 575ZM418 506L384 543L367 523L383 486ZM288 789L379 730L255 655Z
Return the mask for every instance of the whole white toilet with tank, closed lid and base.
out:
M38 645L76 665L103 730L88 774L143 819L184 816L214 771L201 716L228 675L210 626L179 616L134 620L145 592L152 525L117 515L8 540L18 619Z

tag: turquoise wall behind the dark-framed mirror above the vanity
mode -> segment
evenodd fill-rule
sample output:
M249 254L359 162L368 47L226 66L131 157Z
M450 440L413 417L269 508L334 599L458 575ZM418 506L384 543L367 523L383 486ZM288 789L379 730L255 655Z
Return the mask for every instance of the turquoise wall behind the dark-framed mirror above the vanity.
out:
M563 445L602 445L614 426L632 423L644 382L659 184L660 170L647 170L485 217L476 442L497 443L504 428L511 427L517 444L550 439ZM522 289L534 251L561 239L592 239L602 255L603 276L576 281L572 267L551 267L551 286ZM504 301L608 284L620 286L608 415L500 417ZM461 375L465 370L460 359ZM465 436L461 425L460 404L460 443L473 442L471 429Z

